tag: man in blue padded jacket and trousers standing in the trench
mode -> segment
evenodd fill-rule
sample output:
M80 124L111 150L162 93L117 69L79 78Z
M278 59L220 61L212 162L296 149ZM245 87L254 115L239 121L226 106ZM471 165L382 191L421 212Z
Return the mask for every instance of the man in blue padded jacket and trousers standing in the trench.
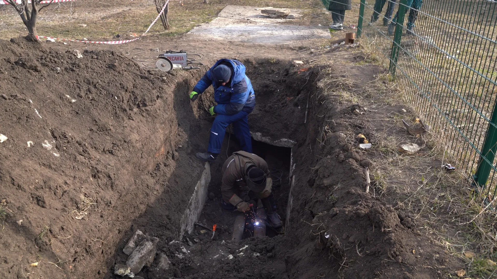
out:
M237 60L217 61L197 82L190 93L190 100L195 101L211 84L214 86L214 100L218 104L209 112L217 116L211 127L207 152L198 152L195 156L204 161L215 161L221 153L226 127L231 123L242 150L252 153L248 114L255 106L255 94L250 79L245 75L245 66Z

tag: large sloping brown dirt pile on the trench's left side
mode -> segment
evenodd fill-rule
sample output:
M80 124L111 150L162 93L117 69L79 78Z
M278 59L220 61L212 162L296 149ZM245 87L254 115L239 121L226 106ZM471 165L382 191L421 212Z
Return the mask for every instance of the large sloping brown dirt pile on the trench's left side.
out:
M199 76L0 40L1 278L101 278L147 210L177 237L209 129L187 96Z

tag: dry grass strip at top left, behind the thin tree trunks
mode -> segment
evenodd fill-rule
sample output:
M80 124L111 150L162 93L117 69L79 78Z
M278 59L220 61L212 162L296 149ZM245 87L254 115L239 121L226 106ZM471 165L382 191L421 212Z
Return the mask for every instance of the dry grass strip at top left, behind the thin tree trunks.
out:
M42 11L38 23L39 35L97 40L112 38L117 34L129 35L133 32L141 34L157 16L155 5L149 0L113 0L107 3L99 1L97 5L94 4L95 2L78 0L74 2L76 8L72 10L69 6L61 6ZM171 0L168 12L171 29L165 31L159 20L148 34L172 37L186 33L199 23L213 20L226 5L309 8L309 3L303 0L210 0L209 4L197 0ZM13 9L0 5L0 38L24 36L26 32L20 17L13 12Z

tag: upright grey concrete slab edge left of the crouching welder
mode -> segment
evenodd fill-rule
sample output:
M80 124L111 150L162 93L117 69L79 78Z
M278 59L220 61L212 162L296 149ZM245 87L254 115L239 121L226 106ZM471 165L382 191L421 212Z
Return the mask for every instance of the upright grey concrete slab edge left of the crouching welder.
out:
M183 216L181 217L181 226L179 229L179 239L183 239L185 232L191 233L198 222L200 214L207 199L207 188L211 181L211 168L209 162L205 163L205 169L198 181L197 186L195 186L195 191L188 202L188 207L186 208Z

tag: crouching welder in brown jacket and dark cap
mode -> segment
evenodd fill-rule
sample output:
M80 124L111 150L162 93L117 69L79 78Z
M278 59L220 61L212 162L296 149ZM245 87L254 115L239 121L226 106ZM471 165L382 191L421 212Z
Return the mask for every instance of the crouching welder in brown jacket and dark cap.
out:
M266 161L261 157L245 151L233 153L223 168L221 193L225 209L250 210L250 204L260 199L267 211L267 221L278 230L282 228L281 220L276 213L276 203L271 194L272 179ZM230 206L231 205L231 206Z

